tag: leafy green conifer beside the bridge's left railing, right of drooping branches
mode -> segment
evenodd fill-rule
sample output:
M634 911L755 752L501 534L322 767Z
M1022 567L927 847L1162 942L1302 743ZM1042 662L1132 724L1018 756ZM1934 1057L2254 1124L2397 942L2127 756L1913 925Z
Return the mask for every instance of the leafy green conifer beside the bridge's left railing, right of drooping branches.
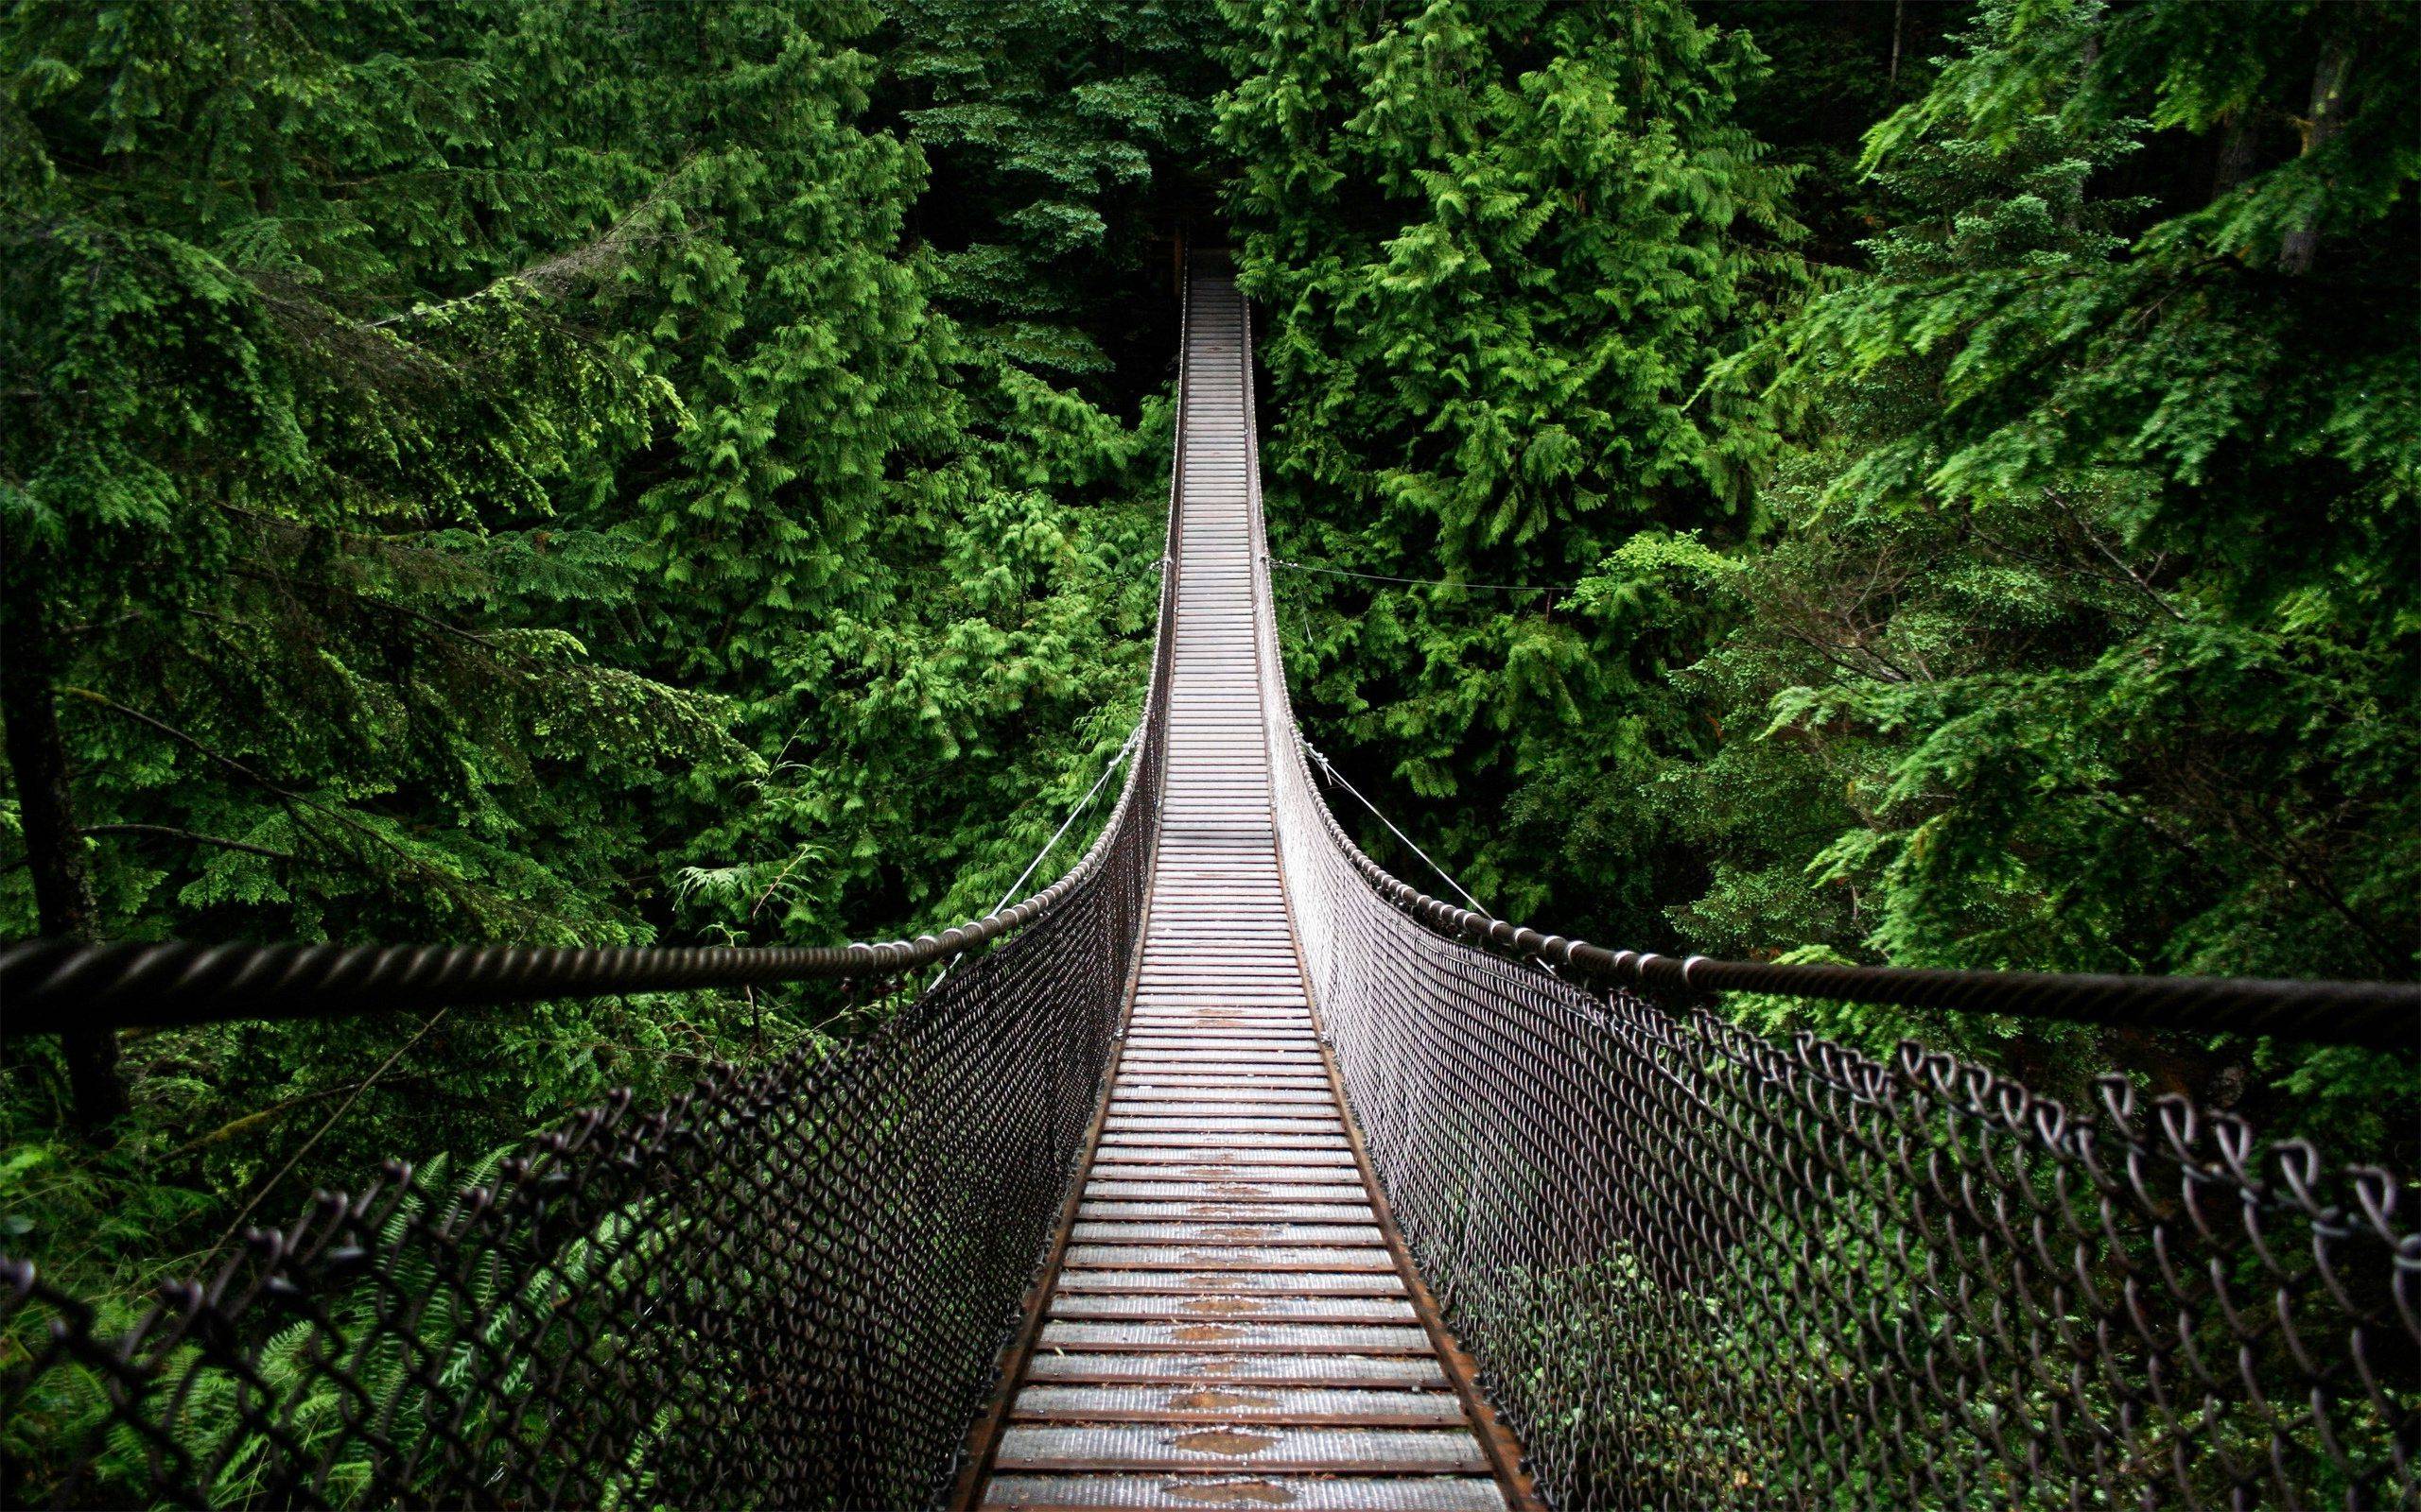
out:
M922 150L864 121L879 19L724 7L726 80L666 17L603 73L690 227L639 290L656 324L615 317L683 394L680 452L603 510L656 573L634 651L736 699L763 760L697 786L668 900L734 939L988 907L1140 689L1160 457L935 305Z

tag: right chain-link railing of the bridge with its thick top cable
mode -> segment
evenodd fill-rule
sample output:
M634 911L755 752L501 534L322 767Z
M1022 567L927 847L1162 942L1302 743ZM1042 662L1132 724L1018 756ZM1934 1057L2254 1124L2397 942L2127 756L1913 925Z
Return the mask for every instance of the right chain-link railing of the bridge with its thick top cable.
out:
M1266 581L1256 610L1278 665ZM1319 801L1281 677L1264 699L1295 929L1373 1171L1554 1505L2421 1505L2409 1181L2121 1077L2068 1108L1707 1006L2409 1045L2414 989L1600 951L1390 878Z

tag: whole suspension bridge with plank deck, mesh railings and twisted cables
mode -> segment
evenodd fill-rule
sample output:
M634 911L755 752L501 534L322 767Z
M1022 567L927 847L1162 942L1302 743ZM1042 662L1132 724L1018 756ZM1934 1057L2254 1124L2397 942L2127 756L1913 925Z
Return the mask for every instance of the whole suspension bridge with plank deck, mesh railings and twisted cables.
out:
M847 948L29 943L7 1031L845 982L843 1050L390 1164L140 1306L0 1263L7 1505L2411 1507L2411 1183L1726 992L2411 1050L2421 994L1658 958L1370 861L1295 733L1252 336L1184 295L1092 849ZM939 970L937 968L947 968Z

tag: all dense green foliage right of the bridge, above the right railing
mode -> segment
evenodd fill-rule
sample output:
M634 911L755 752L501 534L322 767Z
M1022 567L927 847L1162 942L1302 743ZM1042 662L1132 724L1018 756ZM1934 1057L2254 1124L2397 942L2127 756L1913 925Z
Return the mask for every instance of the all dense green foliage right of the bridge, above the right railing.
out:
M1281 578L1315 740L1598 939L2409 977L2414 15L1917 12L1230 5L1278 554L1574 588ZM2411 1108L2344 1052L1758 1011Z

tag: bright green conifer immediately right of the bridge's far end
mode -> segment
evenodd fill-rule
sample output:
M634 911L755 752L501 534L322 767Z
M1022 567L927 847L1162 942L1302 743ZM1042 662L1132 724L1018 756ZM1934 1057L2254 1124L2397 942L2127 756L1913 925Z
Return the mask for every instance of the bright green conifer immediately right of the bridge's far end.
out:
M1569 585L1641 530L1738 535L1760 443L1702 385L1789 278L1784 174L1731 119L1755 48L1673 0L1225 12L1278 556ZM1317 738L1390 774L1494 907L1629 934L1646 895L1620 878L1658 827L1574 832L1569 796L1692 738L1661 670L1697 629L1540 593L1278 593Z

